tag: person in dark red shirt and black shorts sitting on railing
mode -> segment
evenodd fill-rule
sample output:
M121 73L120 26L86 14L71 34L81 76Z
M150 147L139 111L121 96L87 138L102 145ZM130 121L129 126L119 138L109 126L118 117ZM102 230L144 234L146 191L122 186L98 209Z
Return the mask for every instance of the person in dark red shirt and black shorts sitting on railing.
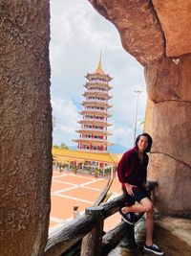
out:
M136 145L126 151L117 165L117 175L122 184L126 206L119 210L122 219L134 224L134 213L146 212L146 242L144 250L163 255L159 246L153 244L154 206L146 190L147 165L152 138L148 133L138 135ZM139 204L135 204L138 201Z

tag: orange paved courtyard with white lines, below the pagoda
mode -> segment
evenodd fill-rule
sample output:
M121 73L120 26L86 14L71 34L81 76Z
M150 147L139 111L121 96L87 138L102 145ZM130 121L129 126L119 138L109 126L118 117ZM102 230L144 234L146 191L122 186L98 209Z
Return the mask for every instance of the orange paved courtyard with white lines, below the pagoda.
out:
M74 174L71 172L53 171L52 181L52 210L50 218L50 230L68 224L74 220L74 205L78 205L79 214L84 214L86 207L91 206L108 183L108 177L95 177L94 175ZM112 197L121 194L120 184L114 179L110 189ZM116 226L120 216L115 214L104 223L104 230Z

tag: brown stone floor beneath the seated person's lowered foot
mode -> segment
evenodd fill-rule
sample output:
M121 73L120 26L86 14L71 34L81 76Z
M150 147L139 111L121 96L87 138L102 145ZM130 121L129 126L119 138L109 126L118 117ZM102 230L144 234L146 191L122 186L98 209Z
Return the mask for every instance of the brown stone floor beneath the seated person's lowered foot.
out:
M178 218L158 219L154 227L154 242L159 245L166 256L190 256L190 221ZM142 243L143 244L143 243ZM144 253L142 246L138 250L129 251L127 247L118 245L108 256L143 256L154 255Z

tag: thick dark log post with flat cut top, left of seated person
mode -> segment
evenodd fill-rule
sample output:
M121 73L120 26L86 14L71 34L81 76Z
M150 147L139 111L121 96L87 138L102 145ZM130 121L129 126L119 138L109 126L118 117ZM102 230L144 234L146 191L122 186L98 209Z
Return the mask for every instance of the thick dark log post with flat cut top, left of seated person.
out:
M103 207L92 206L86 208L86 215L93 215L96 219L95 227L82 239L81 256L101 256L102 255L102 235L103 235Z

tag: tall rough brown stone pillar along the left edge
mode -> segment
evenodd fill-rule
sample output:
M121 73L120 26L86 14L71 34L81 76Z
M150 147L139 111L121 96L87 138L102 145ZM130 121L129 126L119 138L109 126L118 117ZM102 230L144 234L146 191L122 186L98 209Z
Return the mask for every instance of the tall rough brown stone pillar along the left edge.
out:
M42 255L52 176L49 1L0 2L0 255Z

